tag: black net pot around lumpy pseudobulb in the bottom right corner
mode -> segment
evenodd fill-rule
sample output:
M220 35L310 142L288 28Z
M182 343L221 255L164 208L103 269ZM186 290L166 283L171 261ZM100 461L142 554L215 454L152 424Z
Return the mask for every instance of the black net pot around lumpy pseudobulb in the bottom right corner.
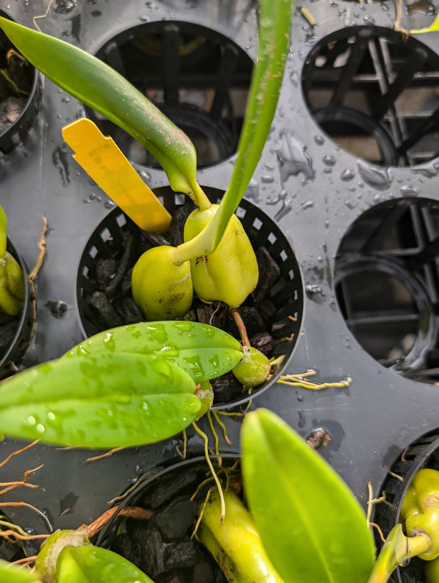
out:
M382 533L387 537L391 529L402 522L399 511L401 502L412 481L413 476L421 468L439 470L439 432L435 431L427 436L420 437L410 444L403 454L394 462L390 470L401 476L402 481L390 473L382 486L389 504L374 506L373 522L380 526ZM381 496L381 492L380 492ZM377 548L382 546L381 539L375 534ZM398 567L389 581L394 583L425 583L424 565L426 561L414 557L406 567Z

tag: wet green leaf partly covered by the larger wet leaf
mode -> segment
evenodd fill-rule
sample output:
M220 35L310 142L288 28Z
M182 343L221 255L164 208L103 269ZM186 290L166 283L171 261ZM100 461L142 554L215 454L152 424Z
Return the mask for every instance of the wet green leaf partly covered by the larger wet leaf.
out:
M100 332L65 354L156 354L177 364L195 382L228 373L243 357L241 345L219 328L198 322L139 322Z

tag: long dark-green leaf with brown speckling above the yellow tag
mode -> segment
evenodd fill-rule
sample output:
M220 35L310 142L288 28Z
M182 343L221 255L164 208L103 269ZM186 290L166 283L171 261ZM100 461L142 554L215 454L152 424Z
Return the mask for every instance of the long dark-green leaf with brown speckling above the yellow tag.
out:
M159 161L174 191L199 194L196 152L177 128L124 77L58 38L0 17L18 50L48 79L132 135Z

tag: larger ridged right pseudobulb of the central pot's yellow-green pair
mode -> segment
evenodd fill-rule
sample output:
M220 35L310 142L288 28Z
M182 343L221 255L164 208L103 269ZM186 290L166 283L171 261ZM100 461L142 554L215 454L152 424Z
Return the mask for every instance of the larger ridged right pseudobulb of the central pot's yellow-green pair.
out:
M191 241L208 226L219 205L194 210L184 226L184 241ZM232 215L216 250L191 259L192 282L197 296L205 302L223 301L238 307L258 283L255 252L240 220Z

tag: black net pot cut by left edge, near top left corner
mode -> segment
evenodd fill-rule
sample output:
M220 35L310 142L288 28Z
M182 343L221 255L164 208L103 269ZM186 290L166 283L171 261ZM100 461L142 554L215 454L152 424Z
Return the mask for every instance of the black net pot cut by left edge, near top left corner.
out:
M0 16L10 16L0 10ZM41 107L43 81L38 71L0 30L0 159L23 142Z

